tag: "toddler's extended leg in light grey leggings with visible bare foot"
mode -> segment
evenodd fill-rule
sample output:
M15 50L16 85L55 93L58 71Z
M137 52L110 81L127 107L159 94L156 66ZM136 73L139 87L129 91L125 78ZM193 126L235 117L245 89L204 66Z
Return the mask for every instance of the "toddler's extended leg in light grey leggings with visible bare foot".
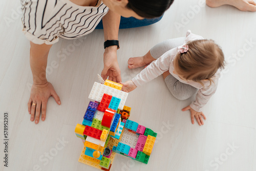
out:
M134 68L146 66L150 64L152 61L162 56L168 50L182 45L184 40L185 40L185 37L178 37L178 38L162 41L156 46L154 46L144 56L131 57L128 60L128 64L129 64L128 68L134 69Z

